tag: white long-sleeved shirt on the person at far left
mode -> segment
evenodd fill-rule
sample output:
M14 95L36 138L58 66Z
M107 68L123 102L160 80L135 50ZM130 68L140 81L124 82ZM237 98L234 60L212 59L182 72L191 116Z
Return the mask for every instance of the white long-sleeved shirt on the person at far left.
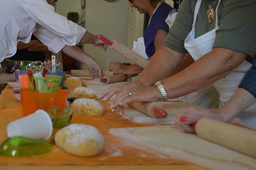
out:
M46 0L0 0L0 62L16 53L17 42L32 33L52 52L77 45L85 28L55 13Z

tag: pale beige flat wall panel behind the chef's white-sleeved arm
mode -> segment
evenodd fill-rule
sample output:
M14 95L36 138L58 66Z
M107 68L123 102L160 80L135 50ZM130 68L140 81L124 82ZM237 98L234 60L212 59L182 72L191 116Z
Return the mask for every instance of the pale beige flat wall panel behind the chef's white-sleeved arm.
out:
M103 34L110 40L117 40L127 46L129 1L86 0L85 28L92 34ZM93 45L84 45L83 50L99 62L102 69L108 69L112 61L128 62L110 48L106 52ZM82 69L86 69L82 66Z

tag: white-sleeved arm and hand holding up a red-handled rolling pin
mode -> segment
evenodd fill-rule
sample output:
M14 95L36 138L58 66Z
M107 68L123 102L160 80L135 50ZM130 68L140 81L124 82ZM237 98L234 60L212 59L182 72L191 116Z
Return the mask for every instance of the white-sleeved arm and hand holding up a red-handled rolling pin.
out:
M33 34L48 46L50 51L58 53L65 45L73 46L79 42L106 47L104 42L97 39L97 36L56 13L54 7L47 1L21 0L18 1L18 5L38 23Z

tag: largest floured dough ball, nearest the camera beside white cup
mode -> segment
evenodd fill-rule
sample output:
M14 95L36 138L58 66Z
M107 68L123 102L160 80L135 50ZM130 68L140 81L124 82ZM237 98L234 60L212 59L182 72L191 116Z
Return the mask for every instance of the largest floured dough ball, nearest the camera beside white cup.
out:
M74 123L58 130L55 145L70 154L90 157L100 154L104 148L104 138L97 128L91 125Z

